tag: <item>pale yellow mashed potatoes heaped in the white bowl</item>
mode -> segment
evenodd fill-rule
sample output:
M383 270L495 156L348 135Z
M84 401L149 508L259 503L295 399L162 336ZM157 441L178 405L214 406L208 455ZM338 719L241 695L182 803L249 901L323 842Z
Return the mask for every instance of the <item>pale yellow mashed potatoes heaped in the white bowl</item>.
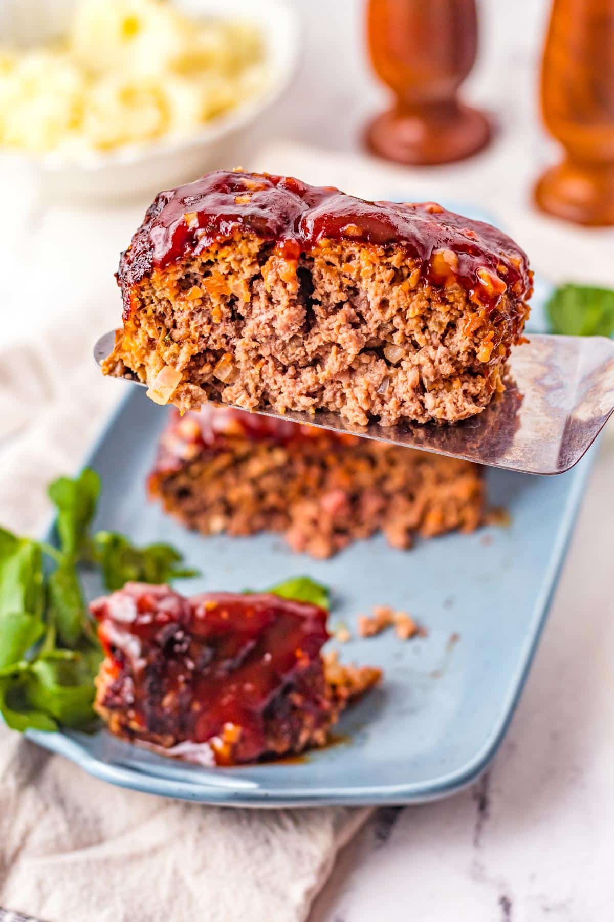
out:
M163 0L81 0L62 47L0 51L0 145L78 156L186 137L266 86L261 34Z

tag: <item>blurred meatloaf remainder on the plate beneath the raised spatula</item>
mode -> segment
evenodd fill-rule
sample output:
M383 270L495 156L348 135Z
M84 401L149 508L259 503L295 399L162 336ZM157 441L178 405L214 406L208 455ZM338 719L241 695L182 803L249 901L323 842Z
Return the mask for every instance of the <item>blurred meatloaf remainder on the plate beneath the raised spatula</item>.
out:
M205 535L283 532L318 558L378 529L396 548L415 533L471 531L484 506L469 461L211 404L173 411L148 489Z

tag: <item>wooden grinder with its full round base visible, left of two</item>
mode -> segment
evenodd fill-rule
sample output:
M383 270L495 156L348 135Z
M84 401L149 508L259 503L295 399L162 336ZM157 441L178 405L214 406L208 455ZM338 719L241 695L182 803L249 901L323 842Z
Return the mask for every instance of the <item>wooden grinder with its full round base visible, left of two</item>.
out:
M484 147L490 126L458 100L475 61L475 0L369 0L367 31L377 76L395 103L369 125L375 153L400 163L448 163Z

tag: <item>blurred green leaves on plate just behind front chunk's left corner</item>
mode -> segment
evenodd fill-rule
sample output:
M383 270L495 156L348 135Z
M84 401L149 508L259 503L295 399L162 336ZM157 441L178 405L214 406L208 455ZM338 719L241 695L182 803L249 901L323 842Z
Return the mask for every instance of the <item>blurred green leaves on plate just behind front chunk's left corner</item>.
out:
M94 555L109 589L121 589L129 582L169 583L198 575L197 570L177 566L182 557L169 544L135 548L129 538L114 531L98 532L94 538Z

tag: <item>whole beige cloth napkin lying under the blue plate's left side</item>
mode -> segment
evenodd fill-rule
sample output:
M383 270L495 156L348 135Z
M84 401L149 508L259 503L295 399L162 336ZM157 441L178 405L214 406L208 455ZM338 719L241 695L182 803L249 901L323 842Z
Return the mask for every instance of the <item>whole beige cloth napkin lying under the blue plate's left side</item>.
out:
M33 535L46 484L79 467L129 386L91 359L117 293L109 304L90 287L84 304L64 291L33 344L0 349L0 523ZM43 922L301 922L367 812L138 794L0 727L0 906Z

